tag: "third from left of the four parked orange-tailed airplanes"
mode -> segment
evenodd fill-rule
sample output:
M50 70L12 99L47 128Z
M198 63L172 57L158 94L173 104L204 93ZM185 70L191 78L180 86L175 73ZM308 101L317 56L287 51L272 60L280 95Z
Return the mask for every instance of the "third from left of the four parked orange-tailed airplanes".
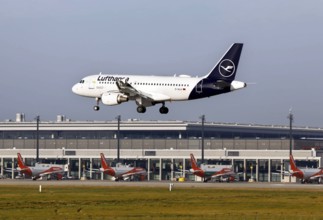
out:
M218 178L220 181L225 180L226 182L234 180L235 173L232 169L232 166L201 164L201 166L199 167L194 155L190 154L190 156L192 166L190 172L196 176L203 178L204 182L212 179L215 180L216 178Z

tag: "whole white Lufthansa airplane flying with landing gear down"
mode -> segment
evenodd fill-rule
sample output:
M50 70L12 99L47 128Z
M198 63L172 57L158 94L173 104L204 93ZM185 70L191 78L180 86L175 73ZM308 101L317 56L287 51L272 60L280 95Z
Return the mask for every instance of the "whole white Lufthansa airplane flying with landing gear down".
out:
M118 105L129 100L136 101L137 112L146 112L146 107L162 104L161 114L167 114L165 102L206 98L232 92L247 86L234 80L243 44L235 43L203 77L139 76L139 75L91 75L75 84L72 91L80 96L95 98L94 110L105 105Z

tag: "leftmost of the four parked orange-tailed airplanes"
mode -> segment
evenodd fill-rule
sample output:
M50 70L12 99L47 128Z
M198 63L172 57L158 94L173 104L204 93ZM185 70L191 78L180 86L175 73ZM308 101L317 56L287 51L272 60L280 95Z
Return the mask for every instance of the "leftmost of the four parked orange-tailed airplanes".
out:
M41 179L44 176L56 175L57 179L62 179L64 172L68 171L68 165L36 163L35 166L26 166L21 154L18 153L18 168L21 174L30 176L33 180Z

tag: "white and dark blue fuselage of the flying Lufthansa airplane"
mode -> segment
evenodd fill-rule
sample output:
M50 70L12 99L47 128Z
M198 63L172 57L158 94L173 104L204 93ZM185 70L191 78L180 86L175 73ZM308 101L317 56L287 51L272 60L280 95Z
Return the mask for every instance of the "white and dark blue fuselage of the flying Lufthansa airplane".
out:
M153 94L162 94L168 101L184 101L210 97L244 88L240 81L233 81L227 89L220 90L214 82L201 77L189 76L138 76L92 75L75 84L72 91L78 95L100 98L106 92L118 92L117 80L127 81L133 88ZM158 96L158 95L156 95ZM164 99L163 99L164 100ZM158 101L158 97L156 99Z

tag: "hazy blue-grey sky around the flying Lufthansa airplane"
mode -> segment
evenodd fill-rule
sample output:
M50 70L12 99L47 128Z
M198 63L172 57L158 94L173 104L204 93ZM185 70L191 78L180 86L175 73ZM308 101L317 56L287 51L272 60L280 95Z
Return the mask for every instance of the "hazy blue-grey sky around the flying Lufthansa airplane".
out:
M0 1L0 120L185 120L323 127L323 2ZM236 79L246 89L136 112L102 106L71 87L99 72L205 75L244 43Z

